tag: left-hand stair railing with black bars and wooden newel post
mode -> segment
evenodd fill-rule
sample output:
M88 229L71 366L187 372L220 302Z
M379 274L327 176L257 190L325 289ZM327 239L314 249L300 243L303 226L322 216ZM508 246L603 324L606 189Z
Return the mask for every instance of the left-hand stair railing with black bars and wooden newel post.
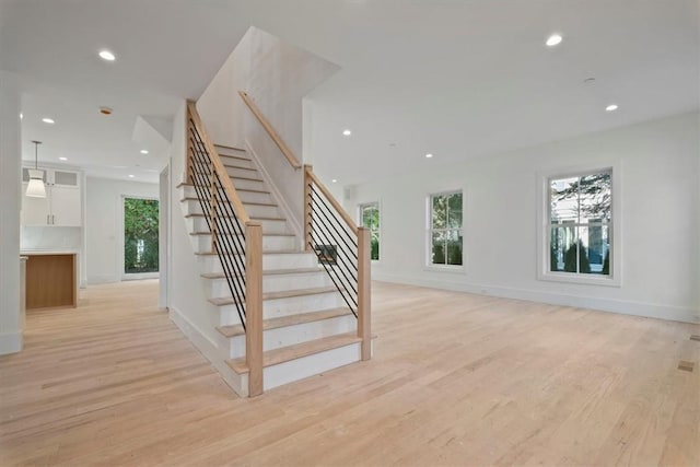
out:
M246 213L194 102L187 103L187 180L245 330L248 395L257 396L262 394L262 226Z

